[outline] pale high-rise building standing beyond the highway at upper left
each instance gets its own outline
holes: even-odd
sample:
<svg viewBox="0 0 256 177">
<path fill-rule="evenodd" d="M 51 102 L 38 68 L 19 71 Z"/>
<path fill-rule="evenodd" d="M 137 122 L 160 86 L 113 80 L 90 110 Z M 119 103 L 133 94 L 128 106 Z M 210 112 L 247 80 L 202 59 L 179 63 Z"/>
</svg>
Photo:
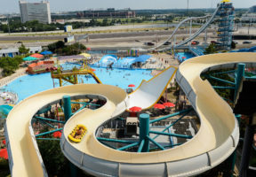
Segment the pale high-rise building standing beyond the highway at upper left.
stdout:
<svg viewBox="0 0 256 177">
<path fill-rule="evenodd" d="M 38 20 L 40 23 L 50 24 L 52 22 L 50 3 L 41 1 L 40 3 L 28 3 L 27 1 L 19 1 L 21 22 Z"/>
</svg>

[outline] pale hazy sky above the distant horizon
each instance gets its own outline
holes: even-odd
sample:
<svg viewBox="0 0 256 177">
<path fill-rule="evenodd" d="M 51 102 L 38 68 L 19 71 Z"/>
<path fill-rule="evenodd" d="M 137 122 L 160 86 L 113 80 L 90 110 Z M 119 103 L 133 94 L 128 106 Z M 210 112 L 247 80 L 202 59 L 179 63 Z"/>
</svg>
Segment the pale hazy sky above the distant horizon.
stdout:
<svg viewBox="0 0 256 177">
<path fill-rule="evenodd" d="M 35 3 L 41 0 L 27 0 Z M 50 0 L 51 12 L 82 11 L 87 9 L 186 9 L 189 8 L 214 8 L 220 0 Z M 1 13 L 20 13 L 19 0 L 0 0 Z M 255 0 L 232 0 L 235 8 L 249 8 L 256 5 Z"/>
</svg>

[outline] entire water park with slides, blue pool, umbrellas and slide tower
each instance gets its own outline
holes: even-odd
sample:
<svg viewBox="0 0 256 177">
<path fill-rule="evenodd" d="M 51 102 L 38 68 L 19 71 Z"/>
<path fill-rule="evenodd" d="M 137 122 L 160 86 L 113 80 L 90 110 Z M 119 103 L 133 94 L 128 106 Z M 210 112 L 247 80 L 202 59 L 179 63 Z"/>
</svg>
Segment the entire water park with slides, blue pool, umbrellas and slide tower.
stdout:
<svg viewBox="0 0 256 177">
<path fill-rule="evenodd" d="M 0 80 L 0 159 L 12 176 L 253 176 L 256 49 L 231 49 L 233 16 L 223 0 L 147 52 L 23 58 Z M 208 55 L 191 43 L 216 18 Z"/>
</svg>

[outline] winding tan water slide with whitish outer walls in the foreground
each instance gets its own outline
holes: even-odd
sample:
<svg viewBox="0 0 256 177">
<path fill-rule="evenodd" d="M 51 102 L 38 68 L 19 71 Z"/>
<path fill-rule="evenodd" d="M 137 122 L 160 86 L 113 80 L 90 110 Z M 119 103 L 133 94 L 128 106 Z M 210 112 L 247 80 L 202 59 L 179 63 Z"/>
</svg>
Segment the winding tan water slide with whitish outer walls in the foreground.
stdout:
<svg viewBox="0 0 256 177">
<path fill-rule="evenodd" d="M 140 105 L 141 99 L 153 103 L 153 98 L 148 95 L 140 96 L 138 102 L 132 100 L 135 98 L 130 101 L 130 97 L 135 96 L 137 91 L 141 91 L 141 94 L 156 94 L 153 91 L 155 88 L 147 85 L 153 86 L 152 82 L 158 81 L 157 77 L 167 80 L 161 74 L 148 81 L 148 84 L 142 82 L 140 88 L 129 96 L 123 89 L 103 84 L 66 86 L 30 96 L 16 105 L 6 120 L 5 136 L 12 176 L 47 176 L 30 122 L 39 109 L 66 95 L 101 96 L 107 100 L 98 110 L 86 109 L 73 115 L 68 119 L 61 136 L 60 146 L 64 155 L 87 173 L 96 176 L 147 177 L 203 173 L 219 165 L 236 149 L 239 127 L 231 108 L 208 81 L 201 79 L 200 74 L 209 68 L 234 67 L 239 62 L 255 64 L 255 60 L 255 53 L 225 53 L 192 58 L 180 65 L 176 80 L 196 110 L 201 127 L 193 139 L 169 150 L 144 153 L 114 150 L 100 143 L 95 135 L 100 125 L 128 107 Z M 163 73 L 170 74 L 168 81 L 173 75 L 171 70 L 175 71 L 170 67 Z M 166 82 L 161 82 L 163 85 L 156 89 L 164 90 Z M 81 142 L 73 143 L 68 140 L 68 134 L 77 124 L 83 124 L 88 132 Z"/>
</svg>

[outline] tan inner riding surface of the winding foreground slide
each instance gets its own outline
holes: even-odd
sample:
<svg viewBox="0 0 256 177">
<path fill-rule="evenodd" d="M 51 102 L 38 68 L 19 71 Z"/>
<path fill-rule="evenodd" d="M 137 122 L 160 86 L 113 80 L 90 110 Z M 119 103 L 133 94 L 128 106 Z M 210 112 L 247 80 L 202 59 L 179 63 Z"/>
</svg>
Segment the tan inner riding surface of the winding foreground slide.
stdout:
<svg viewBox="0 0 256 177">
<path fill-rule="evenodd" d="M 218 149 L 224 142 L 227 142 L 234 129 L 237 129 L 237 125 L 231 108 L 217 95 L 208 81 L 203 81 L 200 78 L 200 74 L 213 65 L 236 62 L 253 63 L 255 60 L 255 53 L 227 53 L 189 59 L 180 65 L 180 73 L 196 93 L 194 108 L 201 119 L 201 127 L 196 136 L 189 142 L 170 150 L 148 153 L 124 152 L 110 149 L 96 139 L 95 132 L 102 123 L 127 109 L 129 97 L 123 89 L 103 84 L 82 84 L 51 89 L 30 96 L 12 109 L 6 121 L 5 134 L 8 136 L 9 144 L 7 145 L 9 152 L 12 151 L 12 176 L 45 175 L 42 160 L 36 152 L 36 143 L 32 141 L 35 136 L 30 135 L 28 127 L 37 110 L 66 95 L 100 95 L 107 99 L 107 103 L 98 110 L 82 110 L 76 113 L 64 127 L 62 138 L 65 138 L 65 141 L 76 150 L 84 152 L 88 156 L 111 162 L 138 165 L 175 162 L 205 153 L 211 155 L 211 150 Z M 151 90 L 144 91 L 150 92 Z M 143 99 L 143 97 L 140 97 L 140 99 Z M 147 97 L 144 97 L 144 99 L 147 99 Z M 131 105 L 129 106 L 131 107 Z M 69 142 L 68 134 L 77 124 L 83 124 L 87 127 L 88 133 L 80 143 Z M 236 144 L 230 148 L 227 155 L 223 156 L 223 159 L 212 160 L 216 162 L 212 166 L 220 164 L 221 161 L 228 158 L 226 156 L 230 155 L 235 148 Z M 186 175 L 188 176 L 188 173 L 184 174 L 184 176 Z"/>
</svg>

